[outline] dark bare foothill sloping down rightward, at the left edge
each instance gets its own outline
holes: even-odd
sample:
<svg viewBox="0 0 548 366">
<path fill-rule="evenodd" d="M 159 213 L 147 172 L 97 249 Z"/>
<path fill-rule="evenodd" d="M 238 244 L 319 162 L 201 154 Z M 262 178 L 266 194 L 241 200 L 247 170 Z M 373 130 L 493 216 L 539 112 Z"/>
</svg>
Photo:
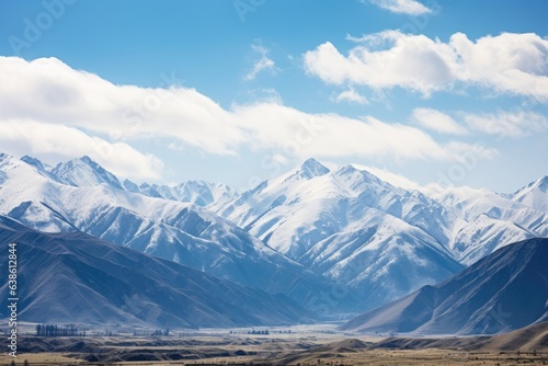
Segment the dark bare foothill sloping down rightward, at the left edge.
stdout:
<svg viewBox="0 0 548 366">
<path fill-rule="evenodd" d="M 250 327 L 310 322 L 282 295 L 238 286 L 81 232 L 42 233 L 0 216 L 16 243 L 18 317 L 30 322 L 145 327 Z M 8 272 L 8 262 L 0 270 Z M 8 284 L 0 286 L 9 298 Z M 2 307 L 0 317 L 8 318 Z"/>
</svg>

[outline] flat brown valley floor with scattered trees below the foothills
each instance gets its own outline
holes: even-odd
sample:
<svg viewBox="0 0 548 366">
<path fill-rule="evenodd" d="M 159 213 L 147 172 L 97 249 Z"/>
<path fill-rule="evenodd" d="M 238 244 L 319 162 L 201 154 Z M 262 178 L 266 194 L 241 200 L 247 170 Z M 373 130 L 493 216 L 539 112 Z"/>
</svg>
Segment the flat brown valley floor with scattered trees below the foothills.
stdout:
<svg viewBox="0 0 548 366">
<path fill-rule="evenodd" d="M 240 330 L 171 336 L 23 336 L 16 365 L 548 365 L 548 350 L 499 351 L 477 347 L 475 339 L 367 338 L 329 330 Z M 414 343 L 413 343 L 414 342 Z M 409 347 L 404 350 L 402 347 Z M 473 351 L 471 351 L 473 350 Z M 0 365 L 12 357 L 0 355 Z"/>
</svg>

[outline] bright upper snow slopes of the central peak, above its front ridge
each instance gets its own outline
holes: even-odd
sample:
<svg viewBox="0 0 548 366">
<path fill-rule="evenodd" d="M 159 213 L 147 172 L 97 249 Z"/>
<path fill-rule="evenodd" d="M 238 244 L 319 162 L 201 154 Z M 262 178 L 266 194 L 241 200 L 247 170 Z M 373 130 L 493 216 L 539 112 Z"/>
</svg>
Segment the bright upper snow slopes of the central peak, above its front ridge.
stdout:
<svg viewBox="0 0 548 366">
<path fill-rule="evenodd" d="M 397 188 L 352 165 L 329 172 L 313 159 L 263 182 L 228 206 L 210 208 L 298 260 L 318 241 L 343 231 L 359 217 L 361 209 L 369 207 L 421 228 L 442 244 L 448 241 L 447 222 L 455 219 L 419 192 Z"/>
</svg>

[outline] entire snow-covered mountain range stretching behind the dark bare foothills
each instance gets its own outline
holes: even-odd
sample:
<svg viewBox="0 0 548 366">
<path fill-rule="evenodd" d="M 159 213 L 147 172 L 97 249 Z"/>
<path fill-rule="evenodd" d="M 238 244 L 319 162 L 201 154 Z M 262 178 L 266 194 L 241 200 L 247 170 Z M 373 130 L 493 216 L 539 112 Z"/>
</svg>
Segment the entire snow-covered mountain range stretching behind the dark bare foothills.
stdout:
<svg viewBox="0 0 548 366">
<path fill-rule="evenodd" d="M 512 194 L 395 186 L 315 159 L 238 192 L 119 180 L 88 157 L 56 167 L 0 155 L 0 215 L 81 231 L 322 314 L 362 312 L 441 283 L 518 240 L 548 236 L 548 178 Z"/>
</svg>

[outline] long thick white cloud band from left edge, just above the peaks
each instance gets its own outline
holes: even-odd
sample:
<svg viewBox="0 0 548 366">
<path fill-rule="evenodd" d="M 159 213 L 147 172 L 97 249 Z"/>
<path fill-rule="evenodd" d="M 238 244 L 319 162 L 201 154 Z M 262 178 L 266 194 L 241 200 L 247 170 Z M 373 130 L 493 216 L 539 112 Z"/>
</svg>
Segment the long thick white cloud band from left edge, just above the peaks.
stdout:
<svg viewBox="0 0 548 366">
<path fill-rule="evenodd" d="M 153 110 L 133 110 L 152 95 L 165 98 Z M 466 148 L 370 116 L 311 114 L 270 100 L 226 110 L 194 89 L 115 85 L 55 58 L 0 57 L 0 146 L 5 152 L 33 151 L 54 161 L 90 155 L 116 174 L 147 179 L 158 176 L 162 163 L 135 146 L 159 140 L 208 155 L 246 149 L 286 160 L 455 160 Z"/>
</svg>

